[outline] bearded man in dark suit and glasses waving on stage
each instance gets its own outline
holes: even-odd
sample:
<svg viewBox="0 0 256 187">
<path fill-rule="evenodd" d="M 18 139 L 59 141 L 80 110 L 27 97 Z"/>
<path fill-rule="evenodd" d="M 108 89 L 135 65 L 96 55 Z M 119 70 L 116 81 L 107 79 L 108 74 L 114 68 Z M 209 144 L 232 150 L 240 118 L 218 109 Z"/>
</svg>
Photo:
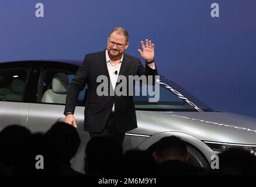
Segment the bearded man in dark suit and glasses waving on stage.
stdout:
<svg viewBox="0 0 256 187">
<path fill-rule="evenodd" d="M 122 27 L 112 30 L 108 37 L 108 45 L 105 51 L 87 54 L 84 62 L 79 67 L 77 74 L 70 84 L 65 105 L 65 122 L 74 125 L 74 110 L 79 92 L 88 84 L 88 97 L 85 104 L 84 130 L 89 131 L 90 136 L 112 136 L 119 143 L 123 143 L 126 131 L 137 127 L 136 112 L 133 96 L 99 96 L 97 82 L 100 75 L 108 77 L 110 93 L 115 90 L 120 82 L 117 79 L 123 75 L 128 79 L 129 75 L 157 75 L 154 63 L 154 44 L 146 39 L 146 46 L 141 41 L 142 51 L 140 56 L 146 61 L 143 67 L 139 58 L 124 54 L 129 47 L 129 35 Z M 130 82 L 129 82 L 130 84 Z"/>
</svg>

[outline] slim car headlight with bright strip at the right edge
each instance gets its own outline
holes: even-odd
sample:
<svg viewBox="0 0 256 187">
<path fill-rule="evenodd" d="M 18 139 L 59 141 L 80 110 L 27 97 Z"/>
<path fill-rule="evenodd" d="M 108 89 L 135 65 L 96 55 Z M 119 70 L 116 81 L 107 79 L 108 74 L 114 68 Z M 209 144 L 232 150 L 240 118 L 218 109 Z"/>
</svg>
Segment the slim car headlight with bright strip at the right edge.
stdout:
<svg viewBox="0 0 256 187">
<path fill-rule="evenodd" d="M 209 146 L 213 151 L 223 152 L 229 150 L 230 148 L 242 148 L 244 150 L 250 151 L 251 154 L 256 156 L 256 145 L 247 144 L 232 144 L 232 143 L 221 143 L 214 141 L 203 141 L 207 146 Z"/>
</svg>

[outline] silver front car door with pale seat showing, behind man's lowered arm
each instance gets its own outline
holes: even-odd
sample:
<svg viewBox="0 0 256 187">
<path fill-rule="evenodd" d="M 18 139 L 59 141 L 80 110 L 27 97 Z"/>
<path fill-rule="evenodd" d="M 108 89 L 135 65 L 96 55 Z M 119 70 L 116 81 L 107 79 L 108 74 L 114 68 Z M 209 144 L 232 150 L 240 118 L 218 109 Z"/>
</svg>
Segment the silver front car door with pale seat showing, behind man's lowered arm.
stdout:
<svg viewBox="0 0 256 187">
<path fill-rule="evenodd" d="M 76 71 L 72 68 L 43 68 L 37 87 L 37 102 L 31 103 L 27 126 L 32 132 L 46 132 L 57 121 L 64 120 L 65 97 L 71 80 Z M 84 101 L 87 87 L 79 94 L 75 108 L 77 130 L 81 139 L 77 155 L 72 159 L 72 168 L 84 172 L 84 152 L 89 141 L 89 133 L 83 130 L 84 126 Z"/>
</svg>

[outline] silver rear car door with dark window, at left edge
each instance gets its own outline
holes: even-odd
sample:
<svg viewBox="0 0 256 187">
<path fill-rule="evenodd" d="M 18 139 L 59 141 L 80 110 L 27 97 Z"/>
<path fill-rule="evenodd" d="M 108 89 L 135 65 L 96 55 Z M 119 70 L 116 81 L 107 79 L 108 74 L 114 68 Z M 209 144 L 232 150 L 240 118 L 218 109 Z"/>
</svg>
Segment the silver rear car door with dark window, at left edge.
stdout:
<svg viewBox="0 0 256 187">
<path fill-rule="evenodd" d="M 10 124 L 27 127 L 30 103 L 25 102 L 30 68 L 0 64 L 0 130 Z"/>
</svg>

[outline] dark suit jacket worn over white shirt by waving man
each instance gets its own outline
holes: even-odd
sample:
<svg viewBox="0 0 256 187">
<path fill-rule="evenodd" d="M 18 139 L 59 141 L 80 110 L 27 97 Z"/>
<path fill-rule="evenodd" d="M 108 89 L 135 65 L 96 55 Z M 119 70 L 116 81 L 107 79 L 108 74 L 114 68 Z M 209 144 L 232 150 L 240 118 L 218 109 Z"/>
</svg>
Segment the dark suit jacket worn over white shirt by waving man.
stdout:
<svg viewBox="0 0 256 187">
<path fill-rule="evenodd" d="M 79 92 L 84 89 L 85 84 L 88 84 L 84 130 L 89 132 L 102 131 L 112 110 L 113 103 L 115 103 L 116 130 L 125 132 L 135 129 L 137 120 L 133 96 L 98 96 L 96 89 L 101 82 L 96 82 L 96 79 L 99 75 L 108 77 L 109 88 L 112 89 L 105 50 L 85 56 L 84 62 L 70 84 L 64 113 L 74 113 Z M 157 70 L 153 70 L 148 65 L 144 68 L 139 58 L 124 54 L 119 75 L 126 76 L 128 80 L 128 75 L 157 75 Z M 118 85 L 118 79 L 116 85 Z"/>
</svg>

